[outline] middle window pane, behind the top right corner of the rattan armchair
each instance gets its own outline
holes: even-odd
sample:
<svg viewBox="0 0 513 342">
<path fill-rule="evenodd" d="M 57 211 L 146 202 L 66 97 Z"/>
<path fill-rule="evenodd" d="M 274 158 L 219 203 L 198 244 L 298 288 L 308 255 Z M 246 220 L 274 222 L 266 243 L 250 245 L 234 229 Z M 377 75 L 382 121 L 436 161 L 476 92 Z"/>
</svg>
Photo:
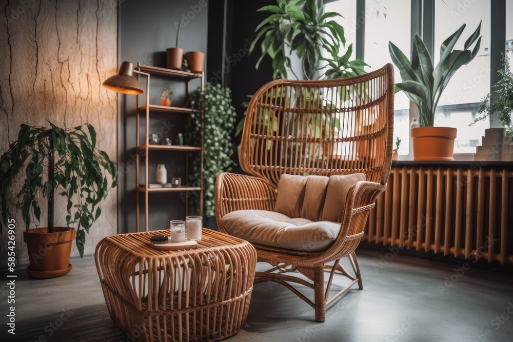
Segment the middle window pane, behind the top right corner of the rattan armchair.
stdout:
<svg viewBox="0 0 513 342">
<path fill-rule="evenodd" d="M 388 42 L 410 56 L 411 2 L 405 0 L 367 0 L 365 2 L 365 58 L 371 70 L 391 63 Z M 394 66 L 396 83 L 401 82 Z M 403 92 L 394 98 L 393 140 L 401 139 L 399 154 L 408 154 L 409 100 Z M 394 149 L 396 146 L 394 145 Z"/>
</svg>

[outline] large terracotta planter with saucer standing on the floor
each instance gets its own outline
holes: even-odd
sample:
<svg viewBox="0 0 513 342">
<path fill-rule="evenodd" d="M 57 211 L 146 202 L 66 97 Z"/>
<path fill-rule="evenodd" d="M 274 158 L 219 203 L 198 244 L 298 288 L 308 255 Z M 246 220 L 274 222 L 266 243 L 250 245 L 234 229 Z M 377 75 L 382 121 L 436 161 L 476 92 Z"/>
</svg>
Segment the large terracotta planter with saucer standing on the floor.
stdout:
<svg viewBox="0 0 513 342">
<path fill-rule="evenodd" d="M 30 261 L 27 273 L 36 278 L 67 274 L 72 267 L 69 258 L 75 236 L 74 228 L 64 227 L 55 227 L 53 233 L 48 233 L 48 228 L 24 231 Z"/>
</svg>

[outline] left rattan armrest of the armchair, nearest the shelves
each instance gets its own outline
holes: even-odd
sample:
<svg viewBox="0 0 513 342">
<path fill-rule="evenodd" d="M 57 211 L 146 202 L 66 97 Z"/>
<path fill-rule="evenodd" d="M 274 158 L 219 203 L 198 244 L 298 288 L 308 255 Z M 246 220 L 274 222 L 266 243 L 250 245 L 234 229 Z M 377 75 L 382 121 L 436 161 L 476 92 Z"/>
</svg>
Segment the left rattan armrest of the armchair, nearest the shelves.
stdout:
<svg viewBox="0 0 513 342">
<path fill-rule="evenodd" d="M 226 233 L 221 218 L 243 209 L 274 211 L 276 187 L 267 180 L 223 172 L 215 179 L 214 208 L 219 229 Z"/>
</svg>

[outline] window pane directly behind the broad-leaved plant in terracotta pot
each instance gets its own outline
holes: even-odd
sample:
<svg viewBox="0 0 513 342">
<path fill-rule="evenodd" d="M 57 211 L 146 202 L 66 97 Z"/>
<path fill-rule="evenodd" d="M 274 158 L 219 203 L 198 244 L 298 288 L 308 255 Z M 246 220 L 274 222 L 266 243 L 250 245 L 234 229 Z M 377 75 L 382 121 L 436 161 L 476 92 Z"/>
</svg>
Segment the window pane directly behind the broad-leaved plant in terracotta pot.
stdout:
<svg viewBox="0 0 513 342">
<path fill-rule="evenodd" d="M 468 126 L 476 118 L 481 99 L 490 91 L 490 2 L 435 0 L 435 65 L 440 61 L 440 46 L 449 35 L 466 24 L 455 46 L 455 49 L 463 50 L 466 39 L 481 20 L 481 48 L 469 64 L 452 76 L 440 97 L 435 115 L 435 126 L 458 129 L 455 153 L 476 153 L 484 130 L 490 126 L 488 120 Z"/>
</svg>

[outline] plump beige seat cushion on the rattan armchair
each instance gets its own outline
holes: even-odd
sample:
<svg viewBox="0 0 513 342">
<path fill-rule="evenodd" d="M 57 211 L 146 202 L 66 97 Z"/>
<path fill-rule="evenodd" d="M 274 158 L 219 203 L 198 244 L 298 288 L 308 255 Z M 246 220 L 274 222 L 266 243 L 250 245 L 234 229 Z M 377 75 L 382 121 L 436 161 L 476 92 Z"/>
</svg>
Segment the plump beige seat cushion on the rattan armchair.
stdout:
<svg viewBox="0 0 513 342">
<path fill-rule="evenodd" d="M 339 223 L 290 218 L 266 210 L 232 211 L 221 222 L 230 235 L 251 243 L 305 252 L 326 250 L 340 230 Z"/>
</svg>

